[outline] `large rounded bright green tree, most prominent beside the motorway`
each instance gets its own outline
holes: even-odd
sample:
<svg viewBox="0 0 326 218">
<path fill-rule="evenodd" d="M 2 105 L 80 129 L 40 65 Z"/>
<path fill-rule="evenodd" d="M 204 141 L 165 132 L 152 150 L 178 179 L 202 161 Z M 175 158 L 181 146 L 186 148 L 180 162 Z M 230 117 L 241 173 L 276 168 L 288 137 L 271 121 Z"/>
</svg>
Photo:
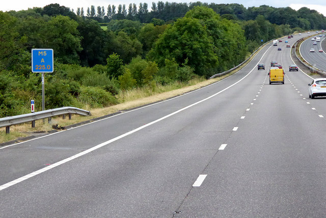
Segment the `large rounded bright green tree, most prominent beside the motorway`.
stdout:
<svg viewBox="0 0 326 218">
<path fill-rule="evenodd" d="M 184 17 L 160 35 L 149 57 L 160 66 L 164 65 L 166 59 L 174 58 L 179 66 L 187 59 L 188 65 L 195 69 L 197 75 L 209 76 L 212 68 L 218 64 L 215 49 L 200 20 Z"/>
</svg>

